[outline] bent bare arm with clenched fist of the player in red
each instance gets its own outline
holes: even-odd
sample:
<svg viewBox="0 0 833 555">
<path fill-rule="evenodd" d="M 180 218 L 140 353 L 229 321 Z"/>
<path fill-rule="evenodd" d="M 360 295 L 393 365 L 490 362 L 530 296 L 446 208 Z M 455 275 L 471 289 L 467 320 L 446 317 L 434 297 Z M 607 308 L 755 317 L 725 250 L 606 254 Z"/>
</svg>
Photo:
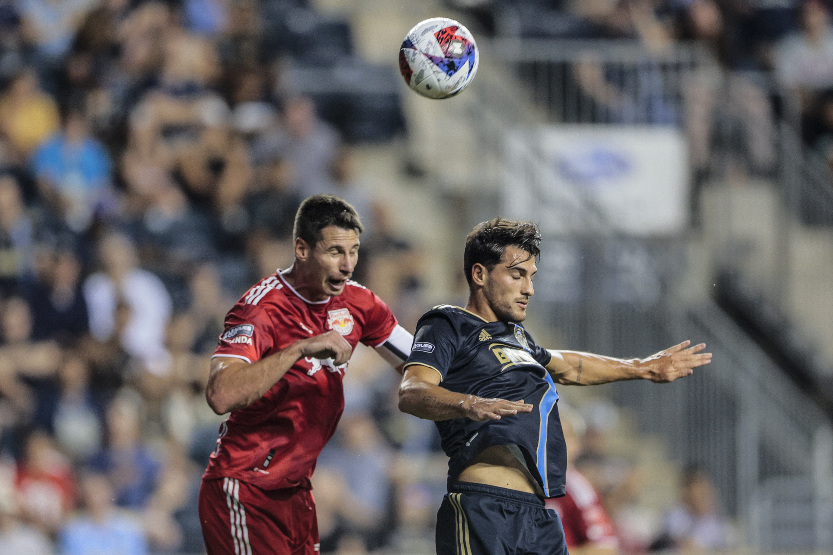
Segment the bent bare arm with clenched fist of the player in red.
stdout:
<svg viewBox="0 0 833 555">
<path fill-rule="evenodd" d="M 344 364 L 351 353 L 352 347 L 342 334 L 328 331 L 296 341 L 286 349 L 251 364 L 232 357 L 214 357 L 206 387 L 208 406 L 217 414 L 245 409 L 272 389 L 272 385 L 298 360 L 311 356 L 334 359 L 336 364 Z"/>
</svg>

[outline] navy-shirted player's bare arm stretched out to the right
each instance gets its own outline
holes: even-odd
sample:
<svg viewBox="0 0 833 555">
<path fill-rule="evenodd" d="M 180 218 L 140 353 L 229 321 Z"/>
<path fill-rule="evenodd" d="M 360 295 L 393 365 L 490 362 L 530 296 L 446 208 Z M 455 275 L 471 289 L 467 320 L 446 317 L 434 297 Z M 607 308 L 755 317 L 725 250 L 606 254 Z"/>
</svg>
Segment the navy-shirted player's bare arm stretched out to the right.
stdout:
<svg viewBox="0 0 833 555">
<path fill-rule="evenodd" d="M 701 353 L 706 344 L 689 347 L 683 341 L 646 359 L 614 359 L 601 354 L 551 350 L 546 368 L 560 384 L 594 385 L 624 379 L 650 379 L 667 384 L 691 375 L 698 366 L 711 363 L 711 353 Z"/>
</svg>

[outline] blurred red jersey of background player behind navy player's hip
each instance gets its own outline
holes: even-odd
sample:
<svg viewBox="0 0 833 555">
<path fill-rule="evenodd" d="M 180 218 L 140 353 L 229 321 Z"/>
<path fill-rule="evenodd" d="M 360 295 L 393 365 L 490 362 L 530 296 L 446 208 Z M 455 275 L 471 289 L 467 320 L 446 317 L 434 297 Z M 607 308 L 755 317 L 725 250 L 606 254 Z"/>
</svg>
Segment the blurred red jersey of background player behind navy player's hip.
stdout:
<svg viewBox="0 0 833 555">
<path fill-rule="evenodd" d="M 566 495 L 547 499 L 546 508 L 556 509 L 561 516 L 568 548 L 619 547 L 611 518 L 596 488 L 576 468 L 567 468 Z"/>
</svg>

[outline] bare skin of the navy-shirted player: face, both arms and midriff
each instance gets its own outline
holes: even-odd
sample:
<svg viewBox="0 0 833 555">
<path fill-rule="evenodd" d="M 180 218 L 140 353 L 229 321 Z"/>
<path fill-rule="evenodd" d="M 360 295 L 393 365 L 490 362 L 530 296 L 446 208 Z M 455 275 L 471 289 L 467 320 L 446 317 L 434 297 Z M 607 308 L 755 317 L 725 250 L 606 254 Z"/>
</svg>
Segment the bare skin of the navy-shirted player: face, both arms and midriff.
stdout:
<svg viewBox="0 0 833 555">
<path fill-rule="evenodd" d="M 506 247 L 501 262 L 491 271 L 475 264 L 471 269 L 471 293 L 466 310 L 487 322 L 526 320 L 526 306 L 535 293 L 532 276 L 536 271 L 534 257 L 514 246 Z M 699 353 L 706 344 L 693 347 L 689 344 L 690 341 L 684 341 L 646 359 L 627 360 L 551 350 L 552 359 L 546 369 L 557 384 L 606 384 L 624 379 L 650 379 L 664 384 L 690 375 L 694 368 L 711 362 L 711 353 Z M 407 366 L 399 388 L 399 409 L 421 419 L 469 418 L 478 422 L 511 418 L 533 409 L 522 399 L 482 399 L 454 393 L 441 387 L 441 379 L 428 366 Z M 505 445 L 484 449 L 456 479 L 543 495 L 529 470 Z"/>
</svg>

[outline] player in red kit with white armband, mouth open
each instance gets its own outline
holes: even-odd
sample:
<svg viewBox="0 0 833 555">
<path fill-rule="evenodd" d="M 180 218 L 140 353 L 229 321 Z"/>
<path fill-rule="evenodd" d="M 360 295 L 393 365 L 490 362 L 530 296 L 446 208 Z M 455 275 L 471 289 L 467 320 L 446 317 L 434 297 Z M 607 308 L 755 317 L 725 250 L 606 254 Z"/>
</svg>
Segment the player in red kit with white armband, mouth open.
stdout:
<svg viewBox="0 0 833 555">
<path fill-rule="evenodd" d="M 344 410 L 342 378 L 361 342 L 402 373 L 412 335 L 351 281 L 362 223 L 332 195 L 303 201 L 295 262 L 248 290 L 226 316 L 206 398 L 220 426 L 202 477 L 209 555 L 318 551 L 310 478 Z"/>
</svg>

